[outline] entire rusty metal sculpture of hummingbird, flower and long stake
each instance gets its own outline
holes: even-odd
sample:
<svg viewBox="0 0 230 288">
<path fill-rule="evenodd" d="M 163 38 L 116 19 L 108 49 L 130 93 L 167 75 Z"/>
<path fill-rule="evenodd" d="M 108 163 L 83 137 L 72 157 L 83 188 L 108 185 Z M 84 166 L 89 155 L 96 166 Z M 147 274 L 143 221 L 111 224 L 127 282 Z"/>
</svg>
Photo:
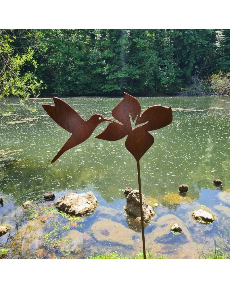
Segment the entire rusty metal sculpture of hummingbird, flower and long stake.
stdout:
<svg viewBox="0 0 230 288">
<path fill-rule="evenodd" d="M 53 158 L 51 163 L 55 162 L 57 158 L 68 149 L 81 144 L 88 139 L 97 125 L 103 121 L 109 121 L 110 123 L 103 132 L 96 136 L 97 139 L 117 141 L 128 136 L 125 141 L 125 147 L 137 161 L 143 255 L 144 259 L 146 259 L 139 161 L 154 143 L 154 138 L 148 131 L 163 128 L 172 122 L 173 114 L 171 107 L 154 105 L 147 108 L 141 114 L 141 105 L 139 101 L 135 97 L 124 93 L 124 98 L 112 110 L 112 116 L 120 122 L 118 123 L 114 120 L 103 118 L 99 114 L 94 114 L 87 121 L 84 121 L 83 118 L 81 118 L 81 116 L 66 102 L 57 97 L 53 97 L 53 101 L 55 106 L 42 105 L 43 108 L 58 125 L 72 133 L 72 135 Z M 132 130 L 130 115 L 133 122 L 137 118 L 135 126 L 139 124 L 142 125 L 137 126 Z"/>
</svg>

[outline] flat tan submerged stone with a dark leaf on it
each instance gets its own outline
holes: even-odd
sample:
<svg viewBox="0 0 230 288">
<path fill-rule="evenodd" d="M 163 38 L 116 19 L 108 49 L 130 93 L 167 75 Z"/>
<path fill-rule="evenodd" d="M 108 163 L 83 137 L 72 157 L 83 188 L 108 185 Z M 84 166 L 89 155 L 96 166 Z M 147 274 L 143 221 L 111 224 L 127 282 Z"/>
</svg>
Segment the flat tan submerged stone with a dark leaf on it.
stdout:
<svg viewBox="0 0 230 288">
<path fill-rule="evenodd" d="M 133 246 L 132 237 L 136 235 L 135 232 L 122 224 L 105 218 L 100 218 L 94 223 L 91 230 L 97 241 L 108 241 L 126 246 Z"/>
</svg>

